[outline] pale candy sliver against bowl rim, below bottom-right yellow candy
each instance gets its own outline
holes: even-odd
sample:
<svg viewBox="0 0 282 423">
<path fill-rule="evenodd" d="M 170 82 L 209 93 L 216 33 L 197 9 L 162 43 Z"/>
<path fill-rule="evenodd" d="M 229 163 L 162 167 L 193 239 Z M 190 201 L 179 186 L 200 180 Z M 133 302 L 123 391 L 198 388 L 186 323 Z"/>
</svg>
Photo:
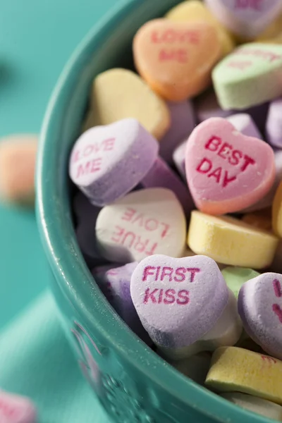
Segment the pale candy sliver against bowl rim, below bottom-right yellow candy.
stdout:
<svg viewBox="0 0 282 423">
<path fill-rule="evenodd" d="M 221 396 L 231 403 L 245 408 L 245 410 L 256 412 L 269 419 L 282 420 L 281 405 L 271 403 L 271 401 L 240 392 L 223 393 Z"/>
</svg>

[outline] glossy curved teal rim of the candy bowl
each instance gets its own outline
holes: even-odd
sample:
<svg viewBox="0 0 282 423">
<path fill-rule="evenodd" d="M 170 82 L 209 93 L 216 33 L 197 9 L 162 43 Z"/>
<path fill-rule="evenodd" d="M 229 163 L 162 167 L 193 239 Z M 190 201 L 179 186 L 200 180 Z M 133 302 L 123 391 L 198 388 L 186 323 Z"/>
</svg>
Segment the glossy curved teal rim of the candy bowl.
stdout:
<svg viewBox="0 0 282 423">
<path fill-rule="evenodd" d="M 142 0 L 142 3 L 149 5 L 150 1 L 152 0 Z M 102 336 L 118 352 L 118 355 L 123 356 L 123 359 L 130 362 L 133 367 L 137 367 L 142 374 L 145 374 L 148 381 L 152 379 L 172 396 L 176 396 L 178 400 L 212 419 L 235 423 L 240 418 L 252 418 L 253 422 L 271 423 L 271 419 L 239 409 L 220 396 L 195 384 L 164 362 L 145 343 L 140 341 L 116 315 L 99 288 L 92 283 L 93 277 L 82 259 L 73 234 L 63 232 L 66 225 L 66 214 L 69 212 L 69 201 L 56 195 L 54 189 L 56 180 L 54 180 L 51 169 L 52 165 L 54 167 L 55 154 L 60 152 L 54 133 L 60 126 L 58 116 L 66 103 L 64 97 L 66 97 L 68 85 L 78 80 L 77 75 L 82 71 L 80 68 L 81 57 L 87 54 L 90 44 L 91 49 L 99 49 L 101 40 L 105 39 L 113 27 L 121 25 L 123 19 L 129 17 L 130 13 L 139 5 L 140 0 L 120 0 L 111 11 L 106 13 L 104 18 L 99 20 L 99 23 L 92 27 L 92 30 L 82 39 L 71 59 L 66 63 L 51 95 L 40 134 L 36 167 L 37 224 L 42 244 L 51 269 L 54 274 L 60 276 L 59 288 L 83 321 L 87 321 L 87 327 L 94 324 L 96 330 L 102 333 Z M 83 285 L 87 285 L 90 298 L 82 298 L 82 295 L 73 289 L 75 280 L 83 281 Z M 57 278 L 56 283 L 58 283 Z M 92 307 L 87 308 L 90 301 L 93 301 Z M 103 319 L 109 326 L 109 331 L 106 331 L 97 319 L 101 307 L 104 309 Z M 114 336 L 118 338 L 118 342 L 115 341 Z M 130 348 L 128 348 L 128 343 L 130 343 Z"/>
</svg>

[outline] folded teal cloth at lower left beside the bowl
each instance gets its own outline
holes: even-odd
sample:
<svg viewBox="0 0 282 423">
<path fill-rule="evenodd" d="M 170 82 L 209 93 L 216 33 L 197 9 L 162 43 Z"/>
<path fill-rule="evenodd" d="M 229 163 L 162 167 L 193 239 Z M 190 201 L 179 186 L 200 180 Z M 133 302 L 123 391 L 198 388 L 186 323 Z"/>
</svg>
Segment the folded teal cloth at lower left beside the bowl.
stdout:
<svg viewBox="0 0 282 423">
<path fill-rule="evenodd" d="M 0 357 L 1 388 L 32 398 L 38 423 L 109 423 L 80 375 L 50 293 L 2 331 Z"/>
</svg>

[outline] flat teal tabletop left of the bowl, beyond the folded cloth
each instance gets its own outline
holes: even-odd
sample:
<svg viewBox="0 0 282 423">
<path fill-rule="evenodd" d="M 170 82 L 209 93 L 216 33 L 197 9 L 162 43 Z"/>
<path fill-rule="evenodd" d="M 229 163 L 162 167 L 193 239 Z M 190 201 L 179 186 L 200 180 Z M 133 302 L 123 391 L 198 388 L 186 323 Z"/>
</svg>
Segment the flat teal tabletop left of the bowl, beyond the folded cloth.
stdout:
<svg viewBox="0 0 282 423">
<path fill-rule="evenodd" d="M 119 0 L 0 0 L 0 137 L 39 133 L 73 49 Z M 35 214 L 0 205 L 0 329 L 48 284 Z"/>
</svg>

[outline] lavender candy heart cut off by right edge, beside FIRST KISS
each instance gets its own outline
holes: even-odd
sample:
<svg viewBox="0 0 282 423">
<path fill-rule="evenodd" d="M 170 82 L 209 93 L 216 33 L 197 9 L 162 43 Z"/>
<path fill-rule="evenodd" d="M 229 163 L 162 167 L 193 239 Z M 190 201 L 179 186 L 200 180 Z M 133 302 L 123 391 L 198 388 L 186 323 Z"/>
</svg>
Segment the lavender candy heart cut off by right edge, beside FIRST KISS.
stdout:
<svg viewBox="0 0 282 423">
<path fill-rule="evenodd" d="M 282 360 L 282 275 L 265 273 L 244 283 L 238 312 L 250 338 Z"/>
</svg>

